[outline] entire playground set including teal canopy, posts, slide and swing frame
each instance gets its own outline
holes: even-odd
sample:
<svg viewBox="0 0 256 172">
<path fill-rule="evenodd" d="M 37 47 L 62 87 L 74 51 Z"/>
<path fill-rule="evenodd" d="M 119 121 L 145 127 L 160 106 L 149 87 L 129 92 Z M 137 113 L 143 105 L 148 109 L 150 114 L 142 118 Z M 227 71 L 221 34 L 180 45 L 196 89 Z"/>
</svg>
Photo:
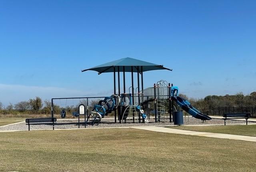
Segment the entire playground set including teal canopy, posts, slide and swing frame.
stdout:
<svg viewBox="0 0 256 172">
<path fill-rule="evenodd" d="M 171 70 L 164 68 L 163 65 L 152 64 L 141 60 L 132 58 L 123 58 L 94 68 L 86 69 L 97 71 L 98 74 L 105 72 L 113 72 L 114 74 L 114 94 L 110 97 L 83 97 L 86 99 L 87 111 L 84 115 L 84 125 L 92 121 L 99 124 L 104 116 L 108 116 L 109 113 L 114 112 L 114 122 L 119 120 L 119 123 L 123 122 L 148 122 L 150 118 L 149 103 L 154 103 L 154 118 L 155 122 L 166 122 L 169 119 L 172 122 L 174 109 L 178 106 L 201 120 L 210 120 L 211 118 L 199 112 L 196 108 L 184 98 L 178 96 L 178 87 L 167 81 L 160 80 L 153 87 L 143 88 L 143 72 L 149 70 Z M 82 72 L 86 71 L 82 70 Z M 172 70 L 171 70 L 172 71 Z M 118 93 L 116 93 L 116 72 L 118 74 Z M 120 72 L 123 72 L 123 93 L 120 92 Z M 129 93 L 126 93 L 126 72 L 131 72 L 132 86 L 129 88 Z M 134 72 L 137 73 L 137 84 L 134 87 Z M 141 76 L 141 77 L 140 77 Z M 141 84 L 140 84 L 141 78 Z M 140 87 L 141 86 L 141 87 Z M 140 90 L 141 88 L 141 90 Z M 78 97 L 79 98 L 79 97 Z M 76 98 L 76 99 L 78 99 Z M 90 98 L 104 98 L 100 100 L 98 104 L 95 104 L 92 110 L 88 109 L 88 99 Z M 52 118 L 54 118 L 54 102 L 56 99 L 74 99 L 74 98 L 52 98 Z M 80 98 L 79 98 L 80 99 Z M 176 104 L 174 104 L 176 102 Z M 176 106 L 174 106 L 176 105 Z M 167 110 L 168 107 L 168 110 Z M 144 114 L 144 109 L 147 111 L 148 116 Z M 117 113 L 118 115 L 117 115 Z M 74 112 L 78 116 L 79 114 Z M 61 111 L 61 117 L 65 117 L 65 110 Z M 87 118 L 86 118 L 87 116 Z"/>
</svg>

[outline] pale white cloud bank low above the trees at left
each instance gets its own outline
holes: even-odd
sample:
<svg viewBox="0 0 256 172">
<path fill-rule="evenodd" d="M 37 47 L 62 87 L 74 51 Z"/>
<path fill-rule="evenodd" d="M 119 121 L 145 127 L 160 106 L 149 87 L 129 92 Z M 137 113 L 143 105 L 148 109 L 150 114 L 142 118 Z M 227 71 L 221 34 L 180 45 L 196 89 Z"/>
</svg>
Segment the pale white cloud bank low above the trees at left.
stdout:
<svg viewBox="0 0 256 172">
<path fill-rule="evenodd" d="M 101 95 L 99 95 L 101 94 Z M 94 94 L 92 90 L 74 90 L 61 87 L 24 86 L 12 84 L 0 84 L 0 102 L 7 106 L 9 103 L 16 104 L 28 101 L 36 96 L 42 100 L 50 100 L 59 97 L 84 97 L 84 96 L 107 96 L 111 90 Z"/>
</svg>

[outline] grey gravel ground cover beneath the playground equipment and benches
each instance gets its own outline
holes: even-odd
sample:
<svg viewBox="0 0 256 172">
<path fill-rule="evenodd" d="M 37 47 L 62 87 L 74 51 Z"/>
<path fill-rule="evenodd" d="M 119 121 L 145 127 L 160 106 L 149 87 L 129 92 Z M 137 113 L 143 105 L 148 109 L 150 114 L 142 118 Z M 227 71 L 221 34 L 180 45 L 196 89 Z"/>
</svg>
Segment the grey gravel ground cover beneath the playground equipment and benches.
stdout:
<svg viewBox="0 0 256 172">
<path fill-rule="evenodd" d="M 166 122 L 154 122 L 154 118 L 151 118 L 149 120 L 149 123 L 132 123 L 132 122 L 126 122 L 126 123 L 114 123 L 114 118 L 102 118 L 102 122 L 100 122 L 99 125 L 90 125 L 88 124 L 86 128 L 107 128 L 107 127 L 129 127 L 129 126 L 172 126 L 174 125 L 173 122 L 168 122 L 169 119 L 166 119 Z M 69 124 L 72 123 L 72 124 Z M 76 124 L 74 124 L 76 123 Z M 244 124 L 244 121 L 238 121 L 238 120 L 227 120 L 226 124 Z M 248 122 L 250 123 L 250 122 Z M 78 128 L 78 119 L 57 119 L 57 122 L 54 123 L 54 128 L 60 128 L 60 129 L 68 129 L 68 128 Z M 204 121 L 198 120 L 193 117 L 184 117 L 184 124 L 186 125 L 194 125 L 194 124 L 223 124 L 224 120 L 221 119 L 212 119 L 210 121 Z M 84 128 L 84 119 L 80 119 L 80 128 Z M 52 125 L 30 125 L 30 130 L 45 130 L 45 129 L 52 129 Z M 8 131 L 8 130 L 28 130 L 28 125 L 26 125 L 25 122 L 19 123 L 19 124 L 13 124 L 9 126 L 2 126 L 0 127 L 0 131 Z"/>
</svg>

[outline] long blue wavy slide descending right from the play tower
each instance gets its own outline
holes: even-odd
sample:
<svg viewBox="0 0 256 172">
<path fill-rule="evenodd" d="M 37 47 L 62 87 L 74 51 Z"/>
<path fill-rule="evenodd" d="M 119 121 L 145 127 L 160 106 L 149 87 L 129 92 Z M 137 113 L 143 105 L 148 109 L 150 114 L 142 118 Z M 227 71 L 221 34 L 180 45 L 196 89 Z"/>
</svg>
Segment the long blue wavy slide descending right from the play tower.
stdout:
<svg viewBox="0 0 256 172">
<path fill-rule="evenodd" d="M 199 110 L 197 110 L 196 108 L 194 108 L 190 102 L 188 102 L 188 100 L 182 98 L 182 97 L 172 97 L 172 100 L 176 101 L 178 103 L 178 105 L 185 110 L 186 112 L 188 112 L 190 115 L 194 116 L 197 119 L 200 120 L 211 120 L 212 118 L 210 116 L 204 115 L 201 112 L 199 112 Z"/>
</svg>

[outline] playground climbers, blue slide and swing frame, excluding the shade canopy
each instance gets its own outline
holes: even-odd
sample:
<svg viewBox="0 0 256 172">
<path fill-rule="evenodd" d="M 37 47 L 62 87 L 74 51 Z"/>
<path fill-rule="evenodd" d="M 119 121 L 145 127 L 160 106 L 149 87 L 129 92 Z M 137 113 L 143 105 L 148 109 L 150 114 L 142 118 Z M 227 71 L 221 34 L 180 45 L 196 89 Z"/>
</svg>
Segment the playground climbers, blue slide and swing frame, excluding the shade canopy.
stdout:
<svg viewBox="0 0 256 172">
<path fill-rule="evenodd" d="M 137 90 L 137 89 L 136 89 Z M 148 108 L 149 103 L 154 103 L 154 118 L 155 122 L 166 122 L 169 119 L 172 122 L 174 110 L 179 107 L 188 112 L 188 114 L 201 120 L 210 120 L 209 116 L 202 114 L 196 108 L 194 108 L 187 100 L 178 96 L 178 87 L 173 86 L 167 81 L 160 80 L 154 87 L 141 90 L 139 93 L 118 94 L 110 97 L 81 97 L 86 99 L 87 112 L 84 116 L 84 126 L 87 124 L 99 124 L 105 116 L 108 116 L 111 112 L 115 112 L 120 109 L 120 116 L 118 116 L 120 123 L 126 122 L 144 122 L 148 123 L 150 118 L 149 110 L 148 115 L 144 113 L 142 108 Z M 79 99 L 81 99 L 79 98 Z M 88 99 L 90 98 L 104 98 L 100 100 L 98 104 L 95 104 L 92 110 L 88 108 Z M 53 98 L 52 107 L 54 106 L 53 100 L 56 99 L 78 99 L 78 98 Z M 139 104 L 139 100 L 141 100 Z M 169 104 L 167 104 L 168 102 Z M 176 102 L 176 104 L 175 104 Z M 168 110 L 166 108 L 169 107 Z M 166 112 L 167 111 L 167 112 Z M 60 115 L 64 118 L 64 109 L 61 110 Z M 73 112 L 74 116 L 78 116 L 77 112 Z M 169 114 L 169 115 L 168 115 Z M 66 114 L 65 114 L 66 116 Z M 115 118 L 116 122 L 116 118 Z"/>
</svg>

